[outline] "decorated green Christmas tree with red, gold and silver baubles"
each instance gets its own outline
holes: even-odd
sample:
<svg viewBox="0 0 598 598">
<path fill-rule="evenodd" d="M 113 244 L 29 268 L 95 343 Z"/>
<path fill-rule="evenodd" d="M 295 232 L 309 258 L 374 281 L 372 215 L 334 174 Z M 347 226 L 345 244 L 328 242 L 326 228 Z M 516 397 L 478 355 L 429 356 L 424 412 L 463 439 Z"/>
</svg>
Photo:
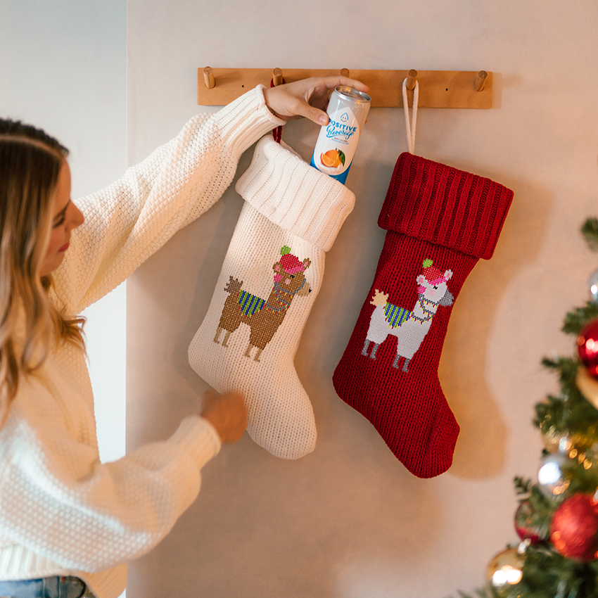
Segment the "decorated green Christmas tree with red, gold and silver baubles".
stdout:
<svg viewBox="0 0 598 598">
<path fill-rule="evenodd" d="M 598 220 L 581 231 L 598 251 Z M 535 405 L 545 448 L 537 481 L 514 479 L 521 542 L 490 561 L 481 598 L 598 598 L 598 270 L 589 285 L 592 300 L 563 326 L 577 352 L 542 361 L 559 376 L 560 395 Z"/>
</svg>

